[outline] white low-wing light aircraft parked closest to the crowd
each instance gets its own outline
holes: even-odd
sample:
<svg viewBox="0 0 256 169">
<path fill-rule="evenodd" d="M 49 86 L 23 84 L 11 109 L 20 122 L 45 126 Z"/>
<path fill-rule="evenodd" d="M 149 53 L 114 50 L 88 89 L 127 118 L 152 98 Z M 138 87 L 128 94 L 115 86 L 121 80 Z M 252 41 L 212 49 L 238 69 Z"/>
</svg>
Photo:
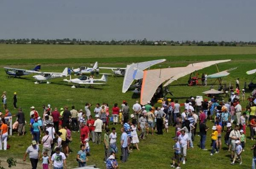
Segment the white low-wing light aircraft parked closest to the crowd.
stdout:
<svg viewBox="0 0 256 169">
<path fill-rule="evenodd" d="M 94 83 L 94 82 L 107 82 L 107 76 L 106 75 L 102 75 L 102 77 L 100 79 L 94 79 L 94 78 L 90 78 L 89 76 L 80 76 L 79 78 L 75 78 L 75 79 L 64 79 L 65 82 L 69 82 L 69 83 L 73 83 L 74 85 L 71 88 L 75 88 L 75 84 L 77 85 L 102 85 L 102 84 L 106 84 L 106 83 Z"/>
</svg>

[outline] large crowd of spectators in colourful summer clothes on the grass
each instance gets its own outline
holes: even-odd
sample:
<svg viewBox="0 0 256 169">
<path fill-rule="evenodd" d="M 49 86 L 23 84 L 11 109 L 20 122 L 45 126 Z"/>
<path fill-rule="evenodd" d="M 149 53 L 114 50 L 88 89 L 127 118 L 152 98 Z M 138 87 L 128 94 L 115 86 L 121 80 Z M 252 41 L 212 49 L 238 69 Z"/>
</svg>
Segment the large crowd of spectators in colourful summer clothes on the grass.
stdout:
<svg viewBox="0 0 256 169">
<path fill-rule="evenodd" d="M 238 86 L 239 87 L 239 86 Z M 237 88 L 238 88 L 237 87 Z M 14 93 L 16 96 L 17 93 Z M 3 93 L 6 99 L 6 92 Z M 51 105 L 42 106 L 41 111 L 31 106 L 30 111 L 30 133 L 32 135 L 32 144 L 26 150 L 24 161 L 29 155 L 32 168 L 37 168 L 38 160 L 42 160 L 43 168 L 66 168 L 66 159 L 72 150 L 69 143 L 72 142 L 72 132 L 80 133 L 80 150 L 77 152 L 78 166 L 86 166 L 88 156 L 90 156 L 90 142 L 104 145 L 104 162 L 106 168 L 118 168 L 116 154 L 119 153 L 117 140 L 121 142 L 120 161 L 126 162 L 133 152 L 134 146 L 138 151 L 139 140 L 148 139 L 148 135 L 162 135 L 168 132 L 168 128 L 175 128 L 175 144 L 173 164 L 171 167 L 181 168 L 186 164 L 187 150 L 194 147 L 195 136 L 200 136 L 200 148 L 205 151 L 207 137 L 211 136 L 211 153 L 214 155 L 222 149 L 222 137 L 231 151 L 230 164 L 235 164 L 239 160 L 242 164 L 241 153 L 245 151 L 246 127 L 250 128 L 251 140 L 254 140 L 256 131 L 256 106 L 255 97 L 249 98 L 249 104 L 243 111 L 240 105 L 239 90 L 231 92 L 229 100 L 217 100 L 214 96 L 211 100 L 202 100 L 201 97 L 190 97 L 184 103 L 184 111 L 178 100 L 166 99 L 159 107 L 153 107 L 149 101 L 146 105 L 139 104 L 136 101 L 133 106 L 123 100 L 120 107 L 117 103 L 110 110 L 107 103 L 100 105 L 97 103 L 92 109 L 90 103 L 86 103 L 84 109 L 77 110 L 75 106 L 69 109 L 51 108 Z M 6 100 L 3 102 L 5 114 L 0 112 L 0 150 L 7 149 L 8 128 L 12 127 L 17 131 L 17 135 L 25 134 L 25 114 L 22 108 L 18 108 L 16 114 L 11 114 L 7 109 Z M 14 104 L 16 106 L 16 103 Z M 112 112 L 112 115 L 110 114 Z M 17 120 L 10 126 L 8 118 L 17 117 Z M 212 121 L 214 125 L 208 127 L 207 120 Z M 118 136 L 116 128 L 109 128 L 110 122 L 113 126 L 122 125 L 121 136 Z M 234 129 L 232 129 L 232 125 Z M 199 129 L 199 132 L 197 132 Z M 211 130 L 211 134 L 207 132 Z M 102 139 L 102 132 L 104 136 Z M 77 138 L 75 138 L 77 139 Z M 2 143 L 4 144 L 2 147 Z M 42 154 L 40 145 L 42 144 Z M 256 146 L 253 149 L 253 166 L 256 161 Z M 192 150 L 193 151 L 193 150 Z M 177 165 L 175 164 L 177 162 Z"/>
</svg>

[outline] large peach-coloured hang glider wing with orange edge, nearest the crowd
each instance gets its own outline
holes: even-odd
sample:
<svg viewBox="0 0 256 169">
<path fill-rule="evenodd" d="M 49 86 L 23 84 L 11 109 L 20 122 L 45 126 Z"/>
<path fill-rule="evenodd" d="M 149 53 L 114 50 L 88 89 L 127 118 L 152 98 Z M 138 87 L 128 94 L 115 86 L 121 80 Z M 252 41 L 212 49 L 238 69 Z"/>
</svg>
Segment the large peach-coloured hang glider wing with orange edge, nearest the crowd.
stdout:
<svg viewBox="0 0 256 169">
<path fill-rule="evenodd" d="M 166 80 L 169 80 L 170 78 L 172 79 L 180 78 L 196 70 L 200 70 L 205 67 L 214 65 L 216 63 L 222 63 L 226 61 L 230 61 L 230 60 L 201 62 L 201 63 L 190 64 L 187 67 L 144 70 L 142 87 L 141 87 L 141 104 L 145 105 L 148 101 L 150 101 L 157 87 L 163 82 L 165 82 Z M 169 81 L 167 83 L 169 83 Z"/>
</svg>

